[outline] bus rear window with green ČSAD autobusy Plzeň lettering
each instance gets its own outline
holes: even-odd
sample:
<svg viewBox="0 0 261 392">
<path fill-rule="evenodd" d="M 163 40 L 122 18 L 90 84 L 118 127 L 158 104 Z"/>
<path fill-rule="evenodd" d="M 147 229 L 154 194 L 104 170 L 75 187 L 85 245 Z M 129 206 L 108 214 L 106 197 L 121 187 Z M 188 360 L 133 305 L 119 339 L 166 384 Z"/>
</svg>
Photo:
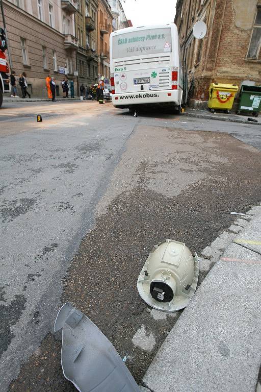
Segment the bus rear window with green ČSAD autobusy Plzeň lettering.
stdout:
<svg viewBox="0 0 261 392">
<path fill-rule="evenodd" d="M 113 37 L 113 58 L 171 52 L 171 28 L 137 30 Z"/>
</svg>

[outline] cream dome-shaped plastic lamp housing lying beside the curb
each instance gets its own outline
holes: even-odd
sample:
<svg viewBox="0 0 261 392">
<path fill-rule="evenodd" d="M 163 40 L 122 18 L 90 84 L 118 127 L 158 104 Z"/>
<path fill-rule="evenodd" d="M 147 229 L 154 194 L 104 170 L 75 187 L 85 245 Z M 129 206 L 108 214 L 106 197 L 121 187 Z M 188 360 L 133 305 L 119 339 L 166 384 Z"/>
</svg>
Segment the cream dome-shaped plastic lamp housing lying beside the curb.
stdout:
<svg viewBox="0 0 261 392">
<path fill-rule="evenodd" d="M 183 242 L 167 239 L 155 245 L 138 278 L 141 298 L 167 312 L 185 308 L 197 287 L 198 264 Z"/>
</svg>

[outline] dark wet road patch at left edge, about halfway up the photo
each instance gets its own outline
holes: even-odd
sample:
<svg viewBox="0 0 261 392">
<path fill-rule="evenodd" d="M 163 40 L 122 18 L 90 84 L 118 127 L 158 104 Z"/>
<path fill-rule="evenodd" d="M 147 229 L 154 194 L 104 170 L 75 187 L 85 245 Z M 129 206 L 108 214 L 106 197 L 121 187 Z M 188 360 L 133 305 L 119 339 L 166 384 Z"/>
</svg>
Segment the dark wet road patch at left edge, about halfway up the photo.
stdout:
<svg viewBox="0 0 261 392">
<path fill-rule="evenodd" d="M 3 205 L 0 208 L 2 222 L 12 222 L 12 220 L 18 216 L 32 211 L 33 205 L 36 203 L 37 199 L 35 198 L 22 198 L 11 201 L 5 199 Z"/>
</svg>

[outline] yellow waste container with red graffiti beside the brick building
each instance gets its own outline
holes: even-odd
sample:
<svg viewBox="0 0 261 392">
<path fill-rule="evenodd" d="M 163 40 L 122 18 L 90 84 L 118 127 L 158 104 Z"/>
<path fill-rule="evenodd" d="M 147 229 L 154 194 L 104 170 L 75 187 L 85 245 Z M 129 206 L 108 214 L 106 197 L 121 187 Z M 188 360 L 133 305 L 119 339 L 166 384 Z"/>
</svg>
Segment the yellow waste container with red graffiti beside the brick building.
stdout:
<svg viewBox="0 0 261 392">
<path fill-rule="evenodd" d="M 234 96 L 239 87 L 236 84 L 211 83 L 208 89 L 208 108 L 212 113 L 214 109 L 225 110 L 227 113 L 232 109 Z"/>
</svg>

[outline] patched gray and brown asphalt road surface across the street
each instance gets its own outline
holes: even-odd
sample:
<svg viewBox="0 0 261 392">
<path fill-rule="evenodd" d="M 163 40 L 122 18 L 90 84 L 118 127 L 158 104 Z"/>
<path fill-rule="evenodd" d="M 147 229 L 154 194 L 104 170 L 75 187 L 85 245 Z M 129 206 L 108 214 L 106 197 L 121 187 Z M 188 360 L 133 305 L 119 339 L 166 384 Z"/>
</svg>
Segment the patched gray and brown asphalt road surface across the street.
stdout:
<svg viewBox="0 0 261 392">
<path fill-rule="evenodd" d="M 147 311 L 136 289 L 140 269 L 166 238 L 200 253 L 231 224 L 230 211 L 260 201 L 260 133 L 160 112 L 135 118 L 96 102 L 6 104 L 1 391 L 75 390 L 53 334 L 67 300 L 139 381 L 179 316 Z"/>
</svg>

